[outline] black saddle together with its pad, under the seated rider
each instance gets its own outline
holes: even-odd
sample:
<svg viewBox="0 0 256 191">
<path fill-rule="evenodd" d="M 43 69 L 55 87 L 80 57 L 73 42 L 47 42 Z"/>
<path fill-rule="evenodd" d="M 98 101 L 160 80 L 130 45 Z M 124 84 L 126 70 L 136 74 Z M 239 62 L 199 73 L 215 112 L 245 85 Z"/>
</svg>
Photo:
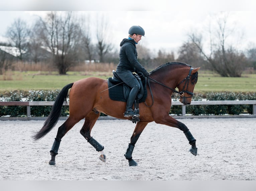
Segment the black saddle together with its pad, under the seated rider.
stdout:
<svg viewBox="0 0 256 191">
<path fill-rule="evenodd" d="M 126 102 L 131 88 L 123 83 L 123 81 L 117 76 L 114 70 L 112 72 L 112 78 L 108 79 L 109 97 L 110 99 L 115 101 Z M 133 76 L 140 83 L 140 90 L 135 100 L 139 101 L 139 103 L 144 102 L 147 97 L 145 77 L 141 72 L 139 72 L 138 74 L 133 74 Z"/>
</svg>

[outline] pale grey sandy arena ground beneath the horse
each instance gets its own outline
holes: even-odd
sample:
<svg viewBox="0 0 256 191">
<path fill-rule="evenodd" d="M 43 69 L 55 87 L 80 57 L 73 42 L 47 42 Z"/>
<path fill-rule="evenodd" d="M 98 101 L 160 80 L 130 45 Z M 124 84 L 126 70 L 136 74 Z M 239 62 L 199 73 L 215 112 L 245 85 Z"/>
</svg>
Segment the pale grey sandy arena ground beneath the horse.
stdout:
<svg viewBox="0 0 256 191">
<path fill-rule="evenodd" d="M 182 131 L 149 123 L 133 151 L 138 166 L 124 157 L 135 125 L 128 120 L 98 120 L 92 136 L 107 162 L 79 133 L 83 121 L 63 138 L 50 166 L 58 121 L 45 137 L 31 136 L 44 121 L 0 121 L 0 180 L 256 180 L 255 118 L 179 119 L 197 139 L 198 155 Z"/>
</svg>

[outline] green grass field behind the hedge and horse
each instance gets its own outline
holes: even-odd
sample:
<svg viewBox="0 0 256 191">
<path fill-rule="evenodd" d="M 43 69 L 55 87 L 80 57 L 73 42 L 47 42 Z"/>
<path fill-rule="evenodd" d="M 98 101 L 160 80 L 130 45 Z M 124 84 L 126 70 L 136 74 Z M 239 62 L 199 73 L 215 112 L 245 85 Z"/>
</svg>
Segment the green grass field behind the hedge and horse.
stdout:
<svg viewBox="0 0 256 191">
<path fill-rule="evenodd" d="M 111 72 L 68 72 L 58 75 L 56 72 L 9 72 L 0 75 L 0 94 L 11 91 L 56 90 L 87 77 L 107 79 Z M 195 93 L 206 92 L 256 92 L 256 74 L 244 74 L 241 78 L 224 78 L 207 71 L 199 71 Z"/>
</svg>

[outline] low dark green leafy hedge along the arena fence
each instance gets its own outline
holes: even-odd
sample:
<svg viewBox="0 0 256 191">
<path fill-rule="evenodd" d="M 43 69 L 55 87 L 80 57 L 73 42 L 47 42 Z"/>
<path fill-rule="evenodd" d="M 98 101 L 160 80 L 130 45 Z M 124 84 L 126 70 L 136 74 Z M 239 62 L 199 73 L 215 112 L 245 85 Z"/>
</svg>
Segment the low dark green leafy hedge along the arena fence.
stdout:
<svg viewBox="0 0 256 191">
<path fill-rule="evenodd" d="M 60 90 L 55 91 L 29 91 L 28 96 L 11 92 L 11 96 L 1 96 L 0 101 L 54 101 Z M 172 99 L 178 100 L 178 95 L 173 94 Z M 69 100 L 69 97 L 67 98 Z M 255 93 L 234 92 L 209 92 L 205 95 L 195 94 L 192 100 L 256 100 Z M 31 106 L 31 116 L 48 116 L 51 106 Z M 192 115 L 239 115 L 242 113 L 252 114 L 253 105 L 187 105 L 186 113 Z M 0 116 L 26 116 L 26 106 L 0 106 Z M 170 114 L 182 115 L 181 105 L 172 105 Z M 69 115 L 69 106 L 62 106 L 61 116 Z M 102 116 L 106 116 L 101 113 Z"/>
</svg>

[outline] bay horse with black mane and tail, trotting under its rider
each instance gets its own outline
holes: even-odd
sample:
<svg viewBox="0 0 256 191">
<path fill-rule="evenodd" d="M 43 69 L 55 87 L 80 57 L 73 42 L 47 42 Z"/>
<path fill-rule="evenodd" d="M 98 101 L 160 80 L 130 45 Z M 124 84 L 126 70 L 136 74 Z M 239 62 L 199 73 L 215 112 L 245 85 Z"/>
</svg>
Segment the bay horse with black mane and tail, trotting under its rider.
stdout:
<svg viewBox="0 0 256 191">
<path fill-rule="evenodd" d="M 199 68 L 192 68 L 190 65 L 179 62 L 169 62 L 157 67 L 146 77 L 147 96 L 144 102 L 139 103 L 139 121 L 128 143 L 128 148 L 124 154 L 129 166 L 137 166 L 137 162 L 132 158 L 135 144 L 142 131 L 148 123 L 155 123 L 176 127 L 183 131 L 191 148 L 189 151 L 197 155 L 196 139 L 193 137 L 188 127 L 169 115 L 171 107 L 171 96 L 173 93 L 179 94 L 179 101 L 184 105 L 191 103 L 193 91 L 198 81 Z M 69 92 L 69 111 L 67 120 L 58 127 L 56 137 L 50 150 L 50 165 L 55 165 L 55 156 L 62 137 L 80 120 L 85 119 L 80 130 L 81 135 L 100 153 L 99 159 L 106 162 L 104 146 L 91 136 L 91 130 L 95 125 L 100 113 L 118 118 L 127 119 L 123 113 L 126 102 L 110 99 L 108 80 L 97 77 L 89 77 L 68 84 L 59 92 L 52 106 L 48 118 L 43 127 L 33 135 L 35 141 L 45 136 L 57 123 L 61 113 L 61 107 L 66 101 Z M 178 91 L 175 89 L 178 88 Z M 70 91 L 69 91 L 70 90 Z"/>
</svg>

